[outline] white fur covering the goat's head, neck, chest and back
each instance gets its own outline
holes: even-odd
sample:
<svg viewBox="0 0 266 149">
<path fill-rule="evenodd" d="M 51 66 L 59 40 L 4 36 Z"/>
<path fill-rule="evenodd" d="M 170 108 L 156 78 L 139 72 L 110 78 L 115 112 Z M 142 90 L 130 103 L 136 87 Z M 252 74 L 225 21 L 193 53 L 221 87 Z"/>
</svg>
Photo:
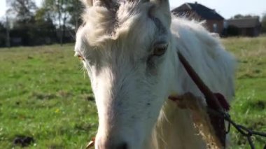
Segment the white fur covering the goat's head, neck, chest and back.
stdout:
<svg viewBox="0 0 266 149">
<path fill-rule="evenodd" d="M 171 15 L 165 12 L 169 3 L 160 4 L 123 2 L 115 13 L 103 6 L 86 8 L 75 52 L 85 59 L 97 104 L 96 148 L 114 148 L 123 142 L 140 149 L 206 148 L 190 112 L 167 100 L 170 94 L 186 92 L 203 99 L 177 51 L 213 92 L 226 99 L 234 95 L 235 60 L 218 38 L 197 22 L 172 16 L 169 24 Z M 157 17 L 167 32 L 158 34 L 149 15 Z M 169 43 L 167 52 L 153 56 L 150 63 L 147 59 L 158 41 Z"/>
</svg>

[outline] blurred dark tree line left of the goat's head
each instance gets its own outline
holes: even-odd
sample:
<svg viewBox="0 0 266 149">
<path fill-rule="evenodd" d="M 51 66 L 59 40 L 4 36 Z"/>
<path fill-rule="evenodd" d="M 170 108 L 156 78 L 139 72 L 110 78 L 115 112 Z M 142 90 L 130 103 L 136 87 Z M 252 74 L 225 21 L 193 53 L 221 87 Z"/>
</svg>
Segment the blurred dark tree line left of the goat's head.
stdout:
<svg viewBox="0 0 266 149">
<path fill-rule="evenodd" d="M 0 46 L 44 45 L 73 42 L 81 23 L 78 0 L 9 0 L 6 17 L 0 22 Z"/>
</svg>

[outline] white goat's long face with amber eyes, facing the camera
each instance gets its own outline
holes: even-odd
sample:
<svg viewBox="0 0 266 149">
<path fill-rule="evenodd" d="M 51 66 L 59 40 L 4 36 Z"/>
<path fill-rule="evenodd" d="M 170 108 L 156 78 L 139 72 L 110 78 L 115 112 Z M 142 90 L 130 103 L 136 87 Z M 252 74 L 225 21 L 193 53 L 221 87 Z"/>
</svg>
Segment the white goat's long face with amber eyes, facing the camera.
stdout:
<svg viewBox="0 0 266 149">
<path fill-rule="evenodd" d="M 75 51 L 97 104 L 96 148 L 146 148 L 169 93 L 169 3 L 85 3 Z"/>
</svg>

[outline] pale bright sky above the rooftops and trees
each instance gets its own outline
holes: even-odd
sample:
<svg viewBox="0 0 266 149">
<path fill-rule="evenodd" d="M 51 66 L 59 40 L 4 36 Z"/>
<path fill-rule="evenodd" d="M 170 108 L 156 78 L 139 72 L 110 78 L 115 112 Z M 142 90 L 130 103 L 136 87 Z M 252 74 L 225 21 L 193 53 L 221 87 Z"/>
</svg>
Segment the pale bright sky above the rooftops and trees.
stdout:
<svg viewBox="0 0 266 149">
<path fill-rule="evenodd" d="M 37 6 L 41 5 L 42 0 L 36 1 Z M 77 0 L 78 1 L 78 0 Z M 183 3 L 195 3 L 191 0 L 169 0 L 170 7 L 176 8 Z M 262 15 L 266 13 L 266 1 L 265 0 L 197 0 L 197 3 L 201 3 L 211 9 L 215 9 L 220 15 L 228 19 L 234 15 Z M 0 18 L 3 19 L 6 10 L 6 0 L 0 0 Z"/>
</svg>

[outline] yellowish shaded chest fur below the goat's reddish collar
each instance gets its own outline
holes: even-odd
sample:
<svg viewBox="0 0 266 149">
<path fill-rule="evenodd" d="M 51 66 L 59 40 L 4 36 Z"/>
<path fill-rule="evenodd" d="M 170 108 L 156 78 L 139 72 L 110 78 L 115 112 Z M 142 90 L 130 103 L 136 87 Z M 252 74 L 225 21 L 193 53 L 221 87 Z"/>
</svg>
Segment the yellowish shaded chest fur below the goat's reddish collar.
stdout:
<svg viewBox="0 0 266 149">
<path fill-rule="evenodd" d="M 166 101 L 153 132 L 153 148 L 206 148 L 188 110 Z"/>
</svg>

